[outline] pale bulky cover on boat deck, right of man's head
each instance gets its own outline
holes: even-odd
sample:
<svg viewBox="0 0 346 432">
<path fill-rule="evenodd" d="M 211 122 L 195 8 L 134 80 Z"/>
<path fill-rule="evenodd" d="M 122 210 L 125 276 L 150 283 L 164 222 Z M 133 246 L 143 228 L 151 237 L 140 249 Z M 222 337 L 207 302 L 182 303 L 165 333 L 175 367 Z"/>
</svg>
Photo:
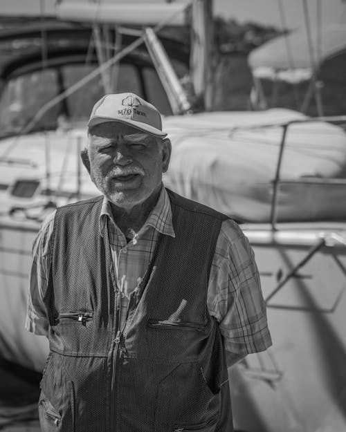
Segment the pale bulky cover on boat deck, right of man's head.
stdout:
<svg viewBox="0 0 346 432">
<path fill-rule="evenodd" d="M 288 109 L 166 118 L 172 159 L 165 184 L 236 220 L 269 222 L 280 124 L 306 118 Z M 280 178 L 286 182 L 279 189 L 278 220 L 345 219 L 343 129 L 318 121 L 291 125 Z"/>
</svg>

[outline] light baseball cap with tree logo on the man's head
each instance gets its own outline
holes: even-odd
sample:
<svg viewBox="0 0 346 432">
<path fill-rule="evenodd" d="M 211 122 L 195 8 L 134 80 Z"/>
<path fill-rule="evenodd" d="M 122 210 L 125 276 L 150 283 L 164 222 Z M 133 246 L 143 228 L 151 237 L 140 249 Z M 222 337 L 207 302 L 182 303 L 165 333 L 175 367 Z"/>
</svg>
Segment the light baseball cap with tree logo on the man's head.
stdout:
<svg viewBox="0 0 346 432">
<path fill-rule="evenodd" d="M 134 93 L 104 95 L 96 102 L 91 111 L 88 127 L 90 129 L 105 122 L 129 124 L 140 131 L 159 137 L 167 135 L 162 131 L 161 114 L 155 106 Z"/>
</svg>

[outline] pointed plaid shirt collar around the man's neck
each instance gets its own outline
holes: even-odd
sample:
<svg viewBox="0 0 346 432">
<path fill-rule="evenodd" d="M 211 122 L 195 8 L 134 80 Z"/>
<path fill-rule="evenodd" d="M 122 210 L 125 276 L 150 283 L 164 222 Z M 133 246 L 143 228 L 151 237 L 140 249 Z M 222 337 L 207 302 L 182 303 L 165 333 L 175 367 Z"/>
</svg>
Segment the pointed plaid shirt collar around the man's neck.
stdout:
<svg viewBox="0 0 346 432">
<path fill-rule="evenodd" d="M 111 220 L 116 229 L 119 229 L 114 221 L 109 200 L 107 200 L 107 198 L 104 196 L 99 221 L 101 236 L 103 236 L 107 219 Z M 143 232 L 147 226 L 153 227 L 156 229 L 156 231 L 161 232 L 161 234 L 175 237 L 172 223 L 172 207 L 170 204 L 170 197 L 168 196 L 165 187 L 161 187 L 161 192 L 157 203 L 154 209 L 152 209 L 152 212 L 149 214 L 145 224 L 140 229 L 140 232 Z"/>
</svg>

